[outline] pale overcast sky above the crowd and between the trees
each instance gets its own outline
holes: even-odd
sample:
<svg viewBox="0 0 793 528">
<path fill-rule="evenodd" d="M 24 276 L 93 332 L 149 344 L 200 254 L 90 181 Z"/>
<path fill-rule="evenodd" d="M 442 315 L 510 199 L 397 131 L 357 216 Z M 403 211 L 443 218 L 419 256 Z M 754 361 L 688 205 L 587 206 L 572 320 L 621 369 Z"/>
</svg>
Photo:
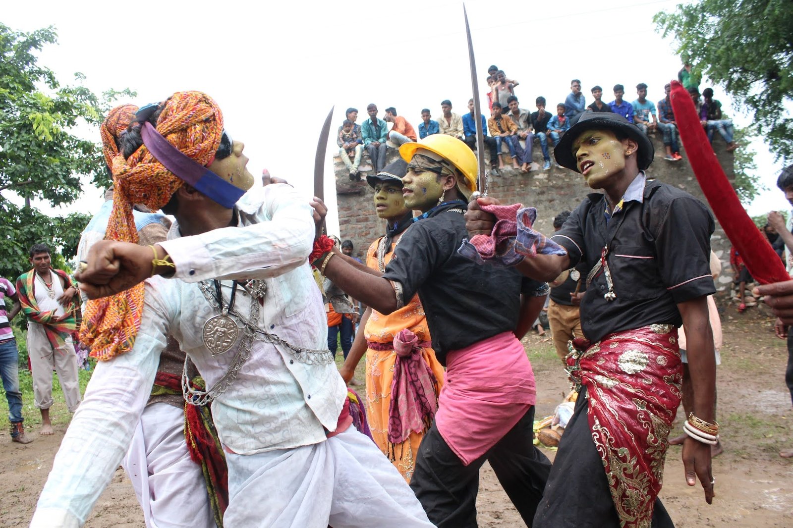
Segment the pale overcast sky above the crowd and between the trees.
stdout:
<svg viewBox="0 0 793 528">
<path fill-rule="evenodd" d="M 515 95 L 526 109 L 535 109 L 538 95 L 553 108 L 569 93 L 571 78 L 581 79 L 587 104 L 592 86 L 603 86 L 603 99 L 611 101 L 618 82 L 628 101 L 638 82 L 658 101 L 680 60 L 652 18 L 676 3 L 469 0 L 481 98 L 487 67 L 496 64 L 520 82 Z M 54 25 L 59 44 L 44 48 L 40 64 L 63 83 L 79 71 L 95 93 L 136 90 L 130 102 L 138 105 L 178 90 L 206 92 L 223 109 L 228 132 L 245 143 L 257 185 L 266 167 L 306 197 L 332 105 L 335 132 L 349 106 L 360 110 L 358 122 L 370 102 L 380 117 L 394 106 L 417 127 L 424 107 L 438 117 L 440 101 L 448 98 L 455 112 L 465 113 L 471 97 L 462 2 L 6 2 L 2 22 L 18 31 Z M 718 86 L 714 91 L 736 124 L 749 122 Z M 86 134 L 99 140 L 96 129 Z M 749 212 L 789 209 L 774 185 L 781 165 L 762 141 L 753 147 L 768 190 Z M 335 149 L 331 137 L 325 169 L 331 210 Z M 64 210 L 93 213 L 99 205 L 101 193 L 86 186 Z M 338 226 L 333 212 L 328 225 L 331 232 Z"/>
</svg>

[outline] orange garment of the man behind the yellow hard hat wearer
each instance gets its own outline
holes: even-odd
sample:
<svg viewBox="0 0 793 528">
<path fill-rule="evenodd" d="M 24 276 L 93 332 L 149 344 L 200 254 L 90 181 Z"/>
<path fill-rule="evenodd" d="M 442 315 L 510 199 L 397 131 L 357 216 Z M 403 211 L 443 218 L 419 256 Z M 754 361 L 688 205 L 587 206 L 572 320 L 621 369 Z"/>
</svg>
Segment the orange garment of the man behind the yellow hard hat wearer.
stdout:
<svg viewBox="0 0 793 528">
<path fill-rule="evenodd" d="M 366 252 L 366 266 L 377 270 L 377 239 Z M 383 258 L 383 265 L 388 264 L 393 257 L 393 247 Z M 427 328 L 427 318 L 424 316 L 424 308 L 416 295 L 409 303 L 405 304 L 396 312 L 384 316 L 380 312 L 372 310 L 369 321 L 364 328 L 366 342 L 383 343 L 393 345 L 394 336 L 405 328 L 412 331 L 419 338 L 419 342 L 430 342 L 430 331 Z M 444 371 L 442 365 L 435 358 L 435 352 L 430 347 L 421 350 L 424 361 L 427 362 L 435 378 L 438 380 L 436 393 L 440 393 L 443 385 Z M 423 433 L 413 431 L 410 437 L 404 442 L 391 445 L 388 440 L 389 429 L 389 404 L 391 402 L 391 384 L 394 375 L 394 363 L 396 362 L 396 352 L 393 350 L 373 350 L 368 347 L 366 350 L 366 417 L 369 419 L 369 427 L 372 431 L 372 438 L 377 447 L 387 456 L 393 465 L 404 476 L 408 483 L 413 475 L 416 453 L 419 451 L 419 444 L 423 438 Z"/>
</svg>

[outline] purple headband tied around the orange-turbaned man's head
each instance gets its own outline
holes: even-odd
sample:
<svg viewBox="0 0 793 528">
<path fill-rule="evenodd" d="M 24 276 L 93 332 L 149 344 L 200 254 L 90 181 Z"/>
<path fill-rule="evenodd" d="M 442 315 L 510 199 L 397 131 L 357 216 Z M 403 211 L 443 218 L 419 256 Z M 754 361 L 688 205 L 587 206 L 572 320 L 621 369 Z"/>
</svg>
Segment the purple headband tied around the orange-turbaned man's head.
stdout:
<svg viewBox="0 0 793 528">
<path fill-rule="evenodd" d="M 237 200 L 245 194 L 243 189 L 220 178 L 212 170 L 197 163 L 170 144 L 148 121 L 140 127 L 140 136 L 143 137 L 144 145 L 151 155 L 167 170 L 226 209 L 234 209 Z"/>
</svg>

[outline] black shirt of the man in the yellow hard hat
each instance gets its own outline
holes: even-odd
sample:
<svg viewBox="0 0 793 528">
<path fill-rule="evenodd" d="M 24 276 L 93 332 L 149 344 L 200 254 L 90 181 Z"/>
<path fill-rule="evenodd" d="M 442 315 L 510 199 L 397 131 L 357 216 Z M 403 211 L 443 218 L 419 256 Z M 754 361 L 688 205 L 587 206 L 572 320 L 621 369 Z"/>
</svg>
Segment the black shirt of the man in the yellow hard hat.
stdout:
<svg viewBox="0 0 793 528">
<path fill-rule="evenodd" d="M 400 282 L 404 299 L 419 294 L 441 365 L 450 350 L 514 331 L 521 293 L 548 291 L 513 268 L 481 266 L 458 254 L 468 233 L 462 214 L 448 210 L 454 208 L 465 204 L 442 205 L 408 228 L 383 275 Z"/>
</svg>

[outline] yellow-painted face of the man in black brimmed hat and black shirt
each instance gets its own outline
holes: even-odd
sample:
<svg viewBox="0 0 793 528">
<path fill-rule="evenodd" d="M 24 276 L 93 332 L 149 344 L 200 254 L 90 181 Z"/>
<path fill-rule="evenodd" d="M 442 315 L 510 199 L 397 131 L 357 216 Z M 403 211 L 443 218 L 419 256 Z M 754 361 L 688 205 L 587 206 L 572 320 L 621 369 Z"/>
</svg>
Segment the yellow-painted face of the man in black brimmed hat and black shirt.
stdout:
<svg viewBox="0 0 793 528">
<path fill-rule="evenodd" d="M 592 189 L 601 189 L 625 169 L 625 144 L 611 130 L 587 130 L 573 142 L 578 170 Z"/>
</svg>

